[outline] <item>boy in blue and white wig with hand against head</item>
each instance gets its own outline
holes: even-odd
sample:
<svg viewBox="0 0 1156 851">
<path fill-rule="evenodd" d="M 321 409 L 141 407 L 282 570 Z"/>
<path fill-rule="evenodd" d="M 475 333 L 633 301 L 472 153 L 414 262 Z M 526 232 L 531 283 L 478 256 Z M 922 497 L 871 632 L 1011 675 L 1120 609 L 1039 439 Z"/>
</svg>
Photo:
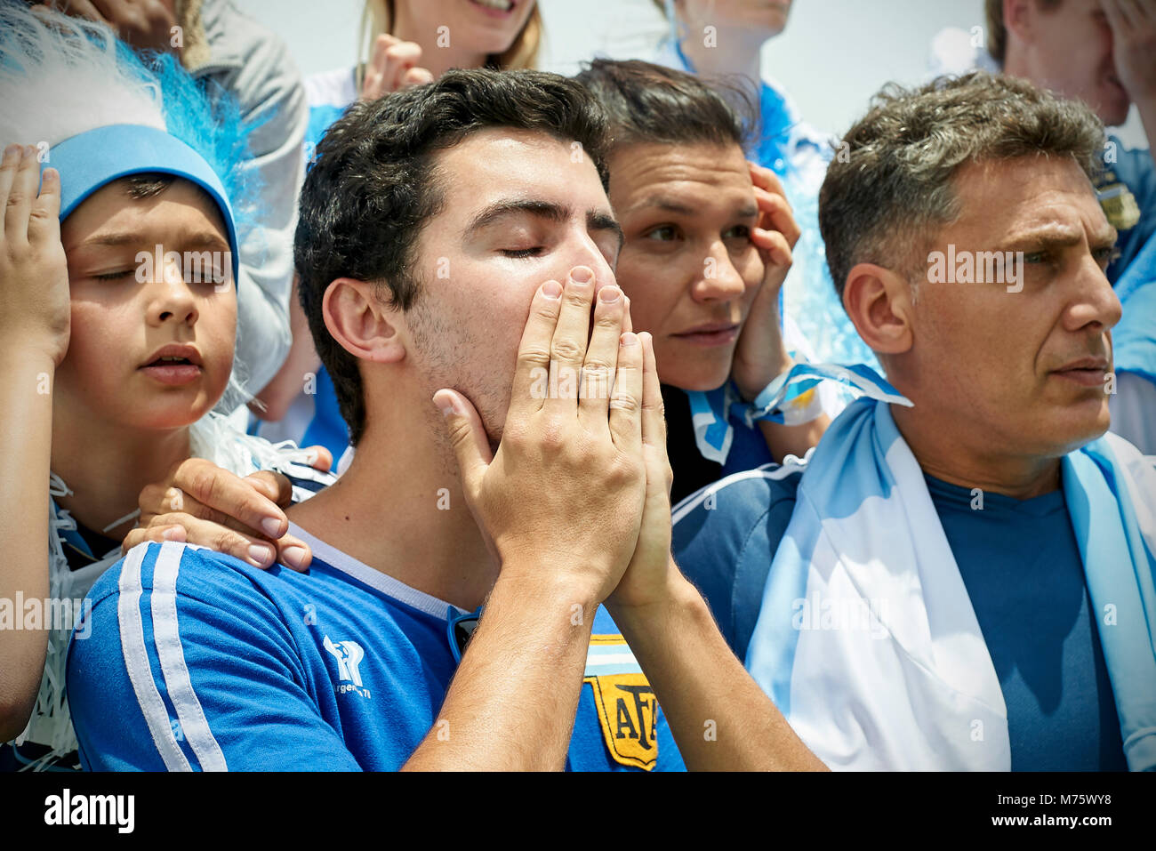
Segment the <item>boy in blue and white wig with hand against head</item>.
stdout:
<svg viewBox="0 0 1156 851">
<path fill-rule="evenodd" d="M 210 414 L 237 334 L 229 199 L 243 190 L 230 178 L 244 136 L 228 104 L 214 112 L 171 60 L 146 67 L 102 27 L 6 3 L 0 32 L 0 141 L 37 142 L 9 145 L 0 163 L 14 458 L 0 481 L 0 739 L 17 742 L 0 760 L 68 767 L 68 637 L 81 598 L 120 555 L 142 488 L 190 456 L 237 475 L 326 480 L 306 452 Z M 296 496 L 307 494 L 303 484 Z"/>
</svg>

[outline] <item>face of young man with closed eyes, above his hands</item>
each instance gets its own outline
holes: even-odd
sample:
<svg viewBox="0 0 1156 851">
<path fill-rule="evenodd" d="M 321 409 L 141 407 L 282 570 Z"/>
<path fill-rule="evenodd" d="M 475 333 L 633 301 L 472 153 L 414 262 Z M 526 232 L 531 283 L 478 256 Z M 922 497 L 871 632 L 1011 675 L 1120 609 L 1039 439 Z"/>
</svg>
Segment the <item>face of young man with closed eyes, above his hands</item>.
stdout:
<svg viewBox="0 0 1156 851">
<path fill-rule="evenodd" d="M 418 238 L 421 293 L 407 313 L 424 406 L 464 393 L 490 439 L 502 435 L 529 303 L 571 268 L 614 283 L 621 230 L 598 170 L 578 143 L 484 130 L 437 157 L 442 212 Z"/>
</svg>

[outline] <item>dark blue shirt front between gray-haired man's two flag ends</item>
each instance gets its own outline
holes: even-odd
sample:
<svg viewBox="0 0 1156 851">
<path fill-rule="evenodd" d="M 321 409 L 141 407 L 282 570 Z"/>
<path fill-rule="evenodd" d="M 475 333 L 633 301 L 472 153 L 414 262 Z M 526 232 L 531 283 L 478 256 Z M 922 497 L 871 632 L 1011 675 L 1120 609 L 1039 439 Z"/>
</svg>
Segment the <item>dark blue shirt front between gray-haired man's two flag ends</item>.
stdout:
<svg viewBox="0 0 1156 851">
<path fill-rule="evenodd" d="M 1054 490 L 1032 500 L 924 476 L 995 665 L 1013 771 L 1127 771 L 1083 563 Z"/>
</svg>

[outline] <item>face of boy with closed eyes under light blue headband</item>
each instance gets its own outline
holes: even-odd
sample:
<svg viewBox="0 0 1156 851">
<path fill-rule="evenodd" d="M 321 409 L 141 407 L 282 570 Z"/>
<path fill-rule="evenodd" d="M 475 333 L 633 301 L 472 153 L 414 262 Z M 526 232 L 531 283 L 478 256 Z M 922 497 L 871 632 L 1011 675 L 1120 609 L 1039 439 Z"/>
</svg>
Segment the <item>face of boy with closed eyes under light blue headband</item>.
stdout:
<svg viewBox="0 0 1156 851">
<path fill-rule="evenodd" d="M 216 205 L 181 179 L 139 200 L 118 180 L 86 199 L 60 236 L 72 333 L 58 414 L 135 429 L 199 420 L 228 386 L 237 325 Z"/>
</svg>

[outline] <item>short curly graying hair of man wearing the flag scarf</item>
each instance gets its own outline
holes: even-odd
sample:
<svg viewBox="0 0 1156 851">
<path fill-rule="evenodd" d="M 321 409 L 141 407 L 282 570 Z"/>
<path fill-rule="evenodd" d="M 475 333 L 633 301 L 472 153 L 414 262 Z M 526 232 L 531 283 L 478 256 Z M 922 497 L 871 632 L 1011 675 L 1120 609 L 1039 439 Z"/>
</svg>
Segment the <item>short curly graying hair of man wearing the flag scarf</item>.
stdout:
<svg viewBox="0 0 1156 851">
<path fill-rule="evenodd" d="M 961 166 L 1070 156 L 1095 180 L 1103 151 L 1104 127 L 1088 106 L 1025 80 L 975 72 L 884 87 L 843 138 L 818 194 L 839 297 L 857 264 L 907 274 L 926 257 L 939 229 L 959 216 L 953 178 Z"/>
</svg>

